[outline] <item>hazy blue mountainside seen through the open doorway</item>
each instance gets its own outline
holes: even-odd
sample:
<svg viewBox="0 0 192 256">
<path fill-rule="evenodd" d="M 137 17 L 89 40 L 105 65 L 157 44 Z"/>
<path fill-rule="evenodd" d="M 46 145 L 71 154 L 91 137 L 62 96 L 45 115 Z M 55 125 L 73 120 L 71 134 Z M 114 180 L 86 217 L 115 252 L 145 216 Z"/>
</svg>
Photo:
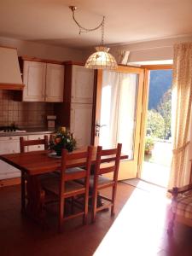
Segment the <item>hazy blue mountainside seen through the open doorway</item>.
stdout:
<svg viewBox="0 0 192 256">
<path fill-rule="evenodd" d="M 172 70 L 151 70 L 148 110 L 157 109 L 161 97 L 172 86 Z"/>
</svg>

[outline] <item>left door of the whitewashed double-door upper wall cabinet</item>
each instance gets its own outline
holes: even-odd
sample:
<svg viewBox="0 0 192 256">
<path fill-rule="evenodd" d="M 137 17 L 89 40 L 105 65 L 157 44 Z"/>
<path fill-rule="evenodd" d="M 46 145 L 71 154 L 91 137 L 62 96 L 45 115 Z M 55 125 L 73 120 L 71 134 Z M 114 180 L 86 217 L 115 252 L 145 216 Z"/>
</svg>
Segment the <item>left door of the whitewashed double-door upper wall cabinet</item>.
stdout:
<svg viewBox="0 0 192 256">
<path fill-rule="evenodd" d="M 44 102 L 46 63 L 24 61 L 23 101 Z"/>
</svg>

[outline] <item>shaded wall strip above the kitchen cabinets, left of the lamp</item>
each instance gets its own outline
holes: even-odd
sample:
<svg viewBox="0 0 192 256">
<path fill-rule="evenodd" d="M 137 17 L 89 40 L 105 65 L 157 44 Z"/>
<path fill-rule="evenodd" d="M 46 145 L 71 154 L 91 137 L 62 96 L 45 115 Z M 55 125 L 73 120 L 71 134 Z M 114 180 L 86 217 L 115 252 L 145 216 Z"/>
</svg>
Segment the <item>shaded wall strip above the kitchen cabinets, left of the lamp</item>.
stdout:
<svg viewBox="0 0 192 256">
<path fill-rule="evenodd" d="M 0 37 L 0 45 L 17 48 L 19 56 L 28 55 L 55 61 L 82 61 L 84 56 L 82 50 L 79 49 L 33 43 L 14 38 Z"/>
</svg>

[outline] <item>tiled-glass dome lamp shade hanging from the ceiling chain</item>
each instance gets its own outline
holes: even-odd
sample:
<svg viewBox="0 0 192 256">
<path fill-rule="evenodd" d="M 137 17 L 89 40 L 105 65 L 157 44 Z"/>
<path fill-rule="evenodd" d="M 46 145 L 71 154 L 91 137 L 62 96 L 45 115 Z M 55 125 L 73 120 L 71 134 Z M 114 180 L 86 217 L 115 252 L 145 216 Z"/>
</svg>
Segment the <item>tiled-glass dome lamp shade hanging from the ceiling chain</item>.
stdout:
<svg viewBox="0 0 192 256">
<path fill-rule="evenodd" d="M 96 52 L 87 59 L 86 68 L 92 69 L 116 69 L 118 67 L 113 55 L 108 53 L 109 48 L 104 46 L 96 47 Z"/>
</svg>

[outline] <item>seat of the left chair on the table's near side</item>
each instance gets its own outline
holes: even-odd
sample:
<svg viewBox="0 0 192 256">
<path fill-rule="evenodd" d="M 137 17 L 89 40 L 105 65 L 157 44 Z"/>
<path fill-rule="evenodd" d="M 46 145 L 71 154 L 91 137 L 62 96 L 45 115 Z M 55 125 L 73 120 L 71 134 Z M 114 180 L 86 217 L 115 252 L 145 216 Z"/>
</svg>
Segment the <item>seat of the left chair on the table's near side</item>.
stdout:
<svg viewBox="0 0 192 256">
<path fill-rule="evenodd" d="M 47 190 L 55 195 L 59 195 L 59 188 L 60 188 L 60 178 L 53 177 L 52 179 L 44 179 L 42 181 L 42 187 L 44 190 Z M 70 195 L 71 192 L 76 191 L 77 194 L 84 193 L 84 186 L 80 183 L 76 183 L 73 181 L 67 181 L 65 183 L 65 195 Z"/>
</svg>

